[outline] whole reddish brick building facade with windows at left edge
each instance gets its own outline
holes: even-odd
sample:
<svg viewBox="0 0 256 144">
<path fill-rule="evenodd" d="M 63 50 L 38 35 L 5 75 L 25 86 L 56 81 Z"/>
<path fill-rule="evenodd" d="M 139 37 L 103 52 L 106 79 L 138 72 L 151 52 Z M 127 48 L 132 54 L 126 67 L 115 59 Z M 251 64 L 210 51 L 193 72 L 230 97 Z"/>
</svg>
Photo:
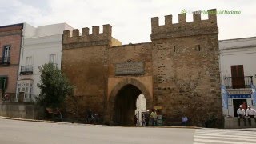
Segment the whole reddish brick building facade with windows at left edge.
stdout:
<svg viewBox="0 0 256 144">
<path fill-rule="evenodd" d="M 0 90 L 14 97 L 22 46 L 23 24 L 0 26 Z M 2 95 L 0 96 L 2 98 Z"/>
</svg>

